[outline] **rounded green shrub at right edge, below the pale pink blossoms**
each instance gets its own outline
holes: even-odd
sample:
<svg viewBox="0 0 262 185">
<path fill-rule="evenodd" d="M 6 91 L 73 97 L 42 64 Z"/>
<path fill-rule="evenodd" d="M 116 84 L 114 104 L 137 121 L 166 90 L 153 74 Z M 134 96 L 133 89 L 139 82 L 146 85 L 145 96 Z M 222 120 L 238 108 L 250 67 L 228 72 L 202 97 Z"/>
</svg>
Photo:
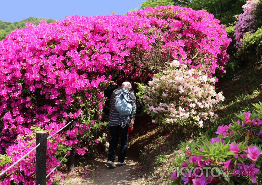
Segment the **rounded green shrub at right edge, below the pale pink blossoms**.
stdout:
<svg viewBox="0 0 262 185">
<path fill-rule="evenodd" d="M 243 61 L 262 61 L 262 27 L 255 33 L 246 33 L 241 39 L 242 46 L 238 51 L 239 59 Z"/>
</svg>

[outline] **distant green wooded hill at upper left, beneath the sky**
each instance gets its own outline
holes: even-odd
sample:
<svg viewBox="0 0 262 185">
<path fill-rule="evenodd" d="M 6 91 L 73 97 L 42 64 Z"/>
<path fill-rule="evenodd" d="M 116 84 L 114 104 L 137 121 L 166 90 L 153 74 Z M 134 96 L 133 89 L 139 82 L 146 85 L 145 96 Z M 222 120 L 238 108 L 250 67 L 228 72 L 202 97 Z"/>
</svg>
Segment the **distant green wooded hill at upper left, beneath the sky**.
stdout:
<svg viewBox="0 0 262 185">
<path fill-rule="evenodd" d="M 29 17 L 19 22 L 16 21 L 14 23 L 0 20 L 0 41 L 6 38 L 6 35 L 12 32 L 13 30 L 25 27 L 25 23 L 33 23 L 35 25 L 38 25 L 42 19 L 44 18 Z M 52 23 L 55 21 L 54 19 L 45 19 L 45 20 L 47 23 Z"/>
</svg>

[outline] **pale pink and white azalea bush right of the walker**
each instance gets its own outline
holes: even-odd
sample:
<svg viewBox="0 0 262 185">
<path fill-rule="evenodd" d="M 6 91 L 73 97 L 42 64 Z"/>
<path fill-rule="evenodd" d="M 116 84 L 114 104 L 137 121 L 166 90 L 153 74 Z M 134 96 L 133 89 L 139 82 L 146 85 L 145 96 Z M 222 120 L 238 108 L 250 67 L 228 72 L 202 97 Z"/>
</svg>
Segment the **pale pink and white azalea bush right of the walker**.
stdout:
<svg viewBox="0 0 262 185">
<path fill-rule="evenodd" d="M 204 121 L 214 116 L 214 106 L 224 100 L 222 92 L 215 92 L 214 82 L 215 77 L 208 78 L 174 60 L 154 74 L 148 86 L 138 84 L 138 100 L 155 117 L 152 122 L 203 127 Z"/>
</svg>

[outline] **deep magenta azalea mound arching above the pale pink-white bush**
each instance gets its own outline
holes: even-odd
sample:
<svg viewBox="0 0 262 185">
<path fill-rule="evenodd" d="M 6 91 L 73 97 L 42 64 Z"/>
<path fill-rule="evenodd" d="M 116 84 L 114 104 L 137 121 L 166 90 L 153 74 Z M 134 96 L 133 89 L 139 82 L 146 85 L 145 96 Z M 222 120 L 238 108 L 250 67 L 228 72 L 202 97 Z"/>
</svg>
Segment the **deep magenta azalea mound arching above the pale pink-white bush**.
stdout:
<svg viewBox="0 0 262 185">
<path fill-rule="evenodd" d="M 177 59 L 190 68 L 201 68 L 210 77 L 216 69 L 224 71 L 223 65 L 228 61 L 226 48 L 231 39 L 214 15 L 205 10 L 169 5 L 139 9 L 128 12 L 127 16 L 148 18 L 150 29 L 141 31 L 155 38 L 151 52 L 144 53 L 144 58 L 134 55 L 136 68 L 155 71 L 159 65 L 163 67 L 165 61 Z"/>
</svg>

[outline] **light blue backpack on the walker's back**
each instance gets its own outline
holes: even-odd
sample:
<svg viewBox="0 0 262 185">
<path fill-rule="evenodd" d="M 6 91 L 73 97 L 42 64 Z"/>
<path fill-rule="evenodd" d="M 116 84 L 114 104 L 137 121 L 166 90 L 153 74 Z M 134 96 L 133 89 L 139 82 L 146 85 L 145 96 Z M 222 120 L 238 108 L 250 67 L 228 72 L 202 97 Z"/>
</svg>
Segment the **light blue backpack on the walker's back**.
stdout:
<svg viewBox="0 0 262 185">
<path fill-rule="evenodd" d="M 121 115 L 128 116 L 132 112 L 132 100 L 128 96 L 128 89 L 124 88 L 116 98 L 115 110 Z"/>
</svg>

